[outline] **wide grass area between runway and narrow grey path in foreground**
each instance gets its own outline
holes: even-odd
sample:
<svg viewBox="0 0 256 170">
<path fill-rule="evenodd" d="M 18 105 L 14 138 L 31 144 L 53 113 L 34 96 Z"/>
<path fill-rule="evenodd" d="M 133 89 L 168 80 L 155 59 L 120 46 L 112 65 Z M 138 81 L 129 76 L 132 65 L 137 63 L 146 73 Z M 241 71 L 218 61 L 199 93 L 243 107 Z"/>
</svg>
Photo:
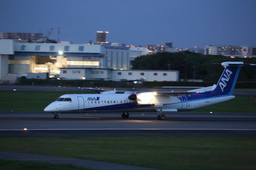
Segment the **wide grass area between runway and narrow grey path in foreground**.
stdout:
<svg viewBox="0 0 256 170">
<path fill-rule="evenodd" d="M 0 150 L 172 170 L 255 169 L 252 137 L 1 138 Z"/>
</svg>

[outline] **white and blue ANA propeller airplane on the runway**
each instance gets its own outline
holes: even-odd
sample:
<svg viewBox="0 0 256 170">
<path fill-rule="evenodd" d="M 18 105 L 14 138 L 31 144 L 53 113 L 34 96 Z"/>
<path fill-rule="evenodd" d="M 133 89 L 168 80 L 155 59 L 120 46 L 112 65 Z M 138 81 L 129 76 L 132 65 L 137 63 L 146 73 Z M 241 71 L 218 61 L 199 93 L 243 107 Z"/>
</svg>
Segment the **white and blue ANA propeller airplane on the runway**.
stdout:
<svg viewBox="0 0 256 170">
<path fill-rule="evenodd" d="M 234 99 L 232 95 L 241 66 L 256 65 L 243 62 L 215 63 L 224 66 L 217 83 L 190 91 L 117 91 L 116 89 L 82 88 L 100 94 L 67 94 L 50 103 L 44 111 L 58 113 L 120 112 L 128 118 L 129 112 L 158 113 L 158 120 L 165 120 L 163 113 L 190 111 Z"/>
</svg>

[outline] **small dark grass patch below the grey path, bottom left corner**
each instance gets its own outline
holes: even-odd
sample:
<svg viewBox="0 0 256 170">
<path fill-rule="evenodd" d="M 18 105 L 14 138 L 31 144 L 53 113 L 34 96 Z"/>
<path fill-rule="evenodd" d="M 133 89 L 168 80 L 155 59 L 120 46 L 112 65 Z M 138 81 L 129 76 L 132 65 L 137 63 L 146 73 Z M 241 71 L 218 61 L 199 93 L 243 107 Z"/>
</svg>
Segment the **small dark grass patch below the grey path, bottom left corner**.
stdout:
<svg viewBox="0 0 256 170">
<path fill-rule="evenodd" d="M 17 160 L 0 160 L 1 170 L 89 170 L 73 165 L 50 164 L 45 162 L 21 162 Z"/>
</svg>

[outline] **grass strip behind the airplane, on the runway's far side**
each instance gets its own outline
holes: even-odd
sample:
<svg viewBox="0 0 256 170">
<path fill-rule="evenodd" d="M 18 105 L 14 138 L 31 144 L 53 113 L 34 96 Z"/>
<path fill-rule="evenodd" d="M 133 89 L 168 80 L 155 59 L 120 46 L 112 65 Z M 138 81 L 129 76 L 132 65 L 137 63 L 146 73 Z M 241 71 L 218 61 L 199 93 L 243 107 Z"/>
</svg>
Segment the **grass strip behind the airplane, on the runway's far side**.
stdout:
<svg viewBox="0 0 256 170">
<path fill-rule="evenodd" d="M 0 91 L 0 111 L 43 111 L 51 102 L 70 91 Z M 256 113 L 256 97 L 236 96 L 235 99 L 194 110 L 194 112 Z"/>
</svg>

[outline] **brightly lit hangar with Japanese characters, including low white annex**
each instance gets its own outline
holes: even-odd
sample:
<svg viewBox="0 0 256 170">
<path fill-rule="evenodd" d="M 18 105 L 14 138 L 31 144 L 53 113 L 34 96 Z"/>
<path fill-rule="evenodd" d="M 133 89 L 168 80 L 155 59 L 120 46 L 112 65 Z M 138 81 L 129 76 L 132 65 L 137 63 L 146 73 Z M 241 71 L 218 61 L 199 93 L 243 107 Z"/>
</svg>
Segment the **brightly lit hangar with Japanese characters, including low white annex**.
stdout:
<svg viewBox="0 0 256 170">
<path fill-rule="evenodd" d="M 14 40 L 0 39 L 0 83 L 3 83 L 8 76 L 28 73 L 49 73 L 60 75 L 65 79 L 178 81 L 178 71 L 164 73 L 151 71 L 151 73 L 144 70 L 142 73 L 142 71 L 128 70 L 129 68 L 129 47 L 18 43 Z"/>
</svg>

